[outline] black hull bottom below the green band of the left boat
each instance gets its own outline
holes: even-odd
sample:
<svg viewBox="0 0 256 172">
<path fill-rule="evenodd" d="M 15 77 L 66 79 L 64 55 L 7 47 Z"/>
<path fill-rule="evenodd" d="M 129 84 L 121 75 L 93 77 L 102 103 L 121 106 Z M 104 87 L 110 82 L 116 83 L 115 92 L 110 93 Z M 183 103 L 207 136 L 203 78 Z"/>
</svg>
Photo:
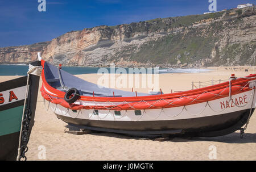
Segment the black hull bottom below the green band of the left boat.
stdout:
<svg viewBox="0 0 256 172">
<path fill-rule="evenodd" d="M 16 160 L 19 146 L 19 132 L 0 136 L 0 160 Z"/>
</svg>

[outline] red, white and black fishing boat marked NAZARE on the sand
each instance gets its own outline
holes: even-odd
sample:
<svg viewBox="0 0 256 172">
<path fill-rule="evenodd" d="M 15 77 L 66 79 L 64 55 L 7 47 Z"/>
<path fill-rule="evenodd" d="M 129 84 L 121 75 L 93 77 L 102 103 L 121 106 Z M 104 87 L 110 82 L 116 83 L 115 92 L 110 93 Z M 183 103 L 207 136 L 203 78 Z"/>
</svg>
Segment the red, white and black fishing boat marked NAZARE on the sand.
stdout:
<svg viewBox="0 0 256 172">
<path fill-rule="evenodd" d="M 243 132 L 255 108 L 256 74 L 180 93 L 151 95 L 84 81 L 42 61 L 44 100 L 68 126 L 136 136 Z"/>
</svg>

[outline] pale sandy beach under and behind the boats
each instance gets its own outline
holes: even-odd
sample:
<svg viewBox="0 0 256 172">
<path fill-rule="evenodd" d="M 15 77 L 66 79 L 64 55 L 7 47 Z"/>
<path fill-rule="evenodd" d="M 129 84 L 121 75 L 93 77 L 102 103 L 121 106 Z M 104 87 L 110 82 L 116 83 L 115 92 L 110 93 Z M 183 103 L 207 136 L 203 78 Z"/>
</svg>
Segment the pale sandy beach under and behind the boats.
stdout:
<svg viewBox="0 0 256 172">
<path fill-rule="evenodd" d="M 225 68 L 209 68 L 213 70 L 204 73 L 160 74 L 159 87 L 163 93 L 170 93 L 171 90 L 191 90 L 192 82 L 224 80 L 232 73 L 236 74 L 236 77 L 253 73 L 253 68 L 246 66 Z M 245 72 L 245 69 L 249 69 L 249 72 Z M 0 76 L 0 82 L 17 77 Z M 97 83 L 100 75 L 82 74 L 77 77 Z M 39 86 L 41 85 L 42 81 Z M 148 92 L 148 88 L 136 90 Z M 255 124 L 256 112 L 250 119 L 243 139 L 240 139 L 239 131 L 221 137 L 175 137 L 164 142 L 104 132 L 72 135 L 64 133 L 66 124 L 57 119 L 51 110 L 47 111 L 39 91 L 35 125 L 26 156 L 28 160 L 40 160 L 38 154 L 41 151 L 40 145 L 43 145 L 46 148 L 44 160 L 210 160 L 209 146 L 213 145 L 217 150 L 216 160 L 256 160 Z"/>
</svg>

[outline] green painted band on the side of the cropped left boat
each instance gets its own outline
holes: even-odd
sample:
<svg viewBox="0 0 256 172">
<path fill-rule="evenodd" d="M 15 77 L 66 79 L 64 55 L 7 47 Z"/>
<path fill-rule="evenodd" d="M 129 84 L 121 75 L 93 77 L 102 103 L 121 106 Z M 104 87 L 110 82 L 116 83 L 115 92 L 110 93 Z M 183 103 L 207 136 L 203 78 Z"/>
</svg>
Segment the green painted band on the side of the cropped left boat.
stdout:
<svg viewBox="0 0 256 172">
<path fill-rule="evenodd" d="M 0 136 L 20 131 L 23 106 L 0 111 Z"/>
</svg>

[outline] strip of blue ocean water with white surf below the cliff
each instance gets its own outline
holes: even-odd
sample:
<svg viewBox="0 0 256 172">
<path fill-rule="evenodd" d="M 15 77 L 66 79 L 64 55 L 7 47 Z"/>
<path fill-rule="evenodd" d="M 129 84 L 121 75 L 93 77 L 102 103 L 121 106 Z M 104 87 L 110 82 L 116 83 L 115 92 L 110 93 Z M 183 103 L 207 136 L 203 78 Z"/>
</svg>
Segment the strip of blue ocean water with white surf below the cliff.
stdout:
<svg viewBox="0 0 256 172">
<path fill-rule="evenodd" d="M 91 67 L 67 67 L 63 66 L 63 70 L 71 74 L 88 74 L 88 73 L 98 73 L 102 68 L 91 68 Z M 101 69 L 101 70 L 99 70 Z M 120 72 L 119 68 L 111 69 L 105 68 L 109 73 Z M 123 72 L 133 73 L 133 69 L 123 68 Z M 106 71 L 105 70 L 105 71 Z M 0 75 L 27 75 L 28 65 L 0 65 Z M 154 69 L 141 69 L 141 73 L 154 73 Z M 198 73 L 198 72 L 208 72 L 208 69 L 159 69 L 159 73 Z M 135 72 L 135 70 L 134 70 Z M 139 73 L 138 71 L 135 73 Z"/>
</svg>

